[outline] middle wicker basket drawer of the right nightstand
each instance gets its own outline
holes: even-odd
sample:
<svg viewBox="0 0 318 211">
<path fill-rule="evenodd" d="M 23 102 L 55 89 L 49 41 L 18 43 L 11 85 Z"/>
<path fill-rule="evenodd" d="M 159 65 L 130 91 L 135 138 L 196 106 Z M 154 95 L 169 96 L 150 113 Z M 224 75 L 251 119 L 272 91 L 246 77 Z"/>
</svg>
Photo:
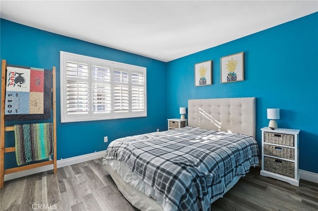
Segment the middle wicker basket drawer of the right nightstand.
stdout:
<svg viewBox="0 0 318 211">
<path fill-rule="evenodd" d="M 295 149 L 264 144 L 264 154 L 279 158 L 295 159 Z"/>
</svg>

